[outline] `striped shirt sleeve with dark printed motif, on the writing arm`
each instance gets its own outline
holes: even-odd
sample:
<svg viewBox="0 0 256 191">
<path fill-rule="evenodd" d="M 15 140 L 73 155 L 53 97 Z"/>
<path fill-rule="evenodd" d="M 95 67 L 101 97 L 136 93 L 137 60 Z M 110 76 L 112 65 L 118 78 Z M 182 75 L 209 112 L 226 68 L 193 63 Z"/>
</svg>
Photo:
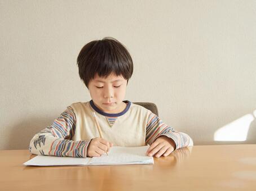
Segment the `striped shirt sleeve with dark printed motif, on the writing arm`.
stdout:
<svg viewBox="0 0 256 191">
<path fill-rule="evenodd" d="M 39 155 L 86 157 L 90 140 L 71 140 L 75 130 L 76 115 L 69 106 L 50 126 L 34 135 L 29 151 Z"/>
</svg>

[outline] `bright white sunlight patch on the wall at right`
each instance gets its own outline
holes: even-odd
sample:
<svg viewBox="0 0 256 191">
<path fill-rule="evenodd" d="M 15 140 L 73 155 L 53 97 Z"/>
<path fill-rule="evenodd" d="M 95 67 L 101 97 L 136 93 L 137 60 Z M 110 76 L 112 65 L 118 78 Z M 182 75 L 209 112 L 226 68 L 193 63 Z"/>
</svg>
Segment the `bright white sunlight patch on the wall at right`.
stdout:
<svg viewBox="0 0 256 191">
<path fill-rule="evenodd" d="M 256 116 L 256 110 L 253 112 Z M 214 140 L 216 141 L 245 141 L 247 138 L 248 130 L 254 116 L 247 114 L 239 119 L 231 122 L 218 129 L 214 133 Z"/>
</svg>

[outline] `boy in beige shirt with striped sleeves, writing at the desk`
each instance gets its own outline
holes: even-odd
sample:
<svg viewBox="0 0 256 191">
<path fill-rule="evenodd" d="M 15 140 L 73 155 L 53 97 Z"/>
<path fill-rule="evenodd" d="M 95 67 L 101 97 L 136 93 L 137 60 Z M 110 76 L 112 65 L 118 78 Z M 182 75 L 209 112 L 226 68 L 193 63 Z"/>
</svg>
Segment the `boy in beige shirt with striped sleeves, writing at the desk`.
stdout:
<svg viewBox="0 0 256 191">
<path fill-rule="evenodd" d="M 133 60 L 116 39 L 104 38 L 86 44 L 78 55 L 77 65 L 91 101 L 71 104 L 50 126 L 34 135 L 29 145 L 31 153 L 99 157 L 113 145 L 150 144 L 146 154 L 160 157 L 193 145 L 187 134 L 170 128 L 151 111 L 123 101 L 133 74 Z M 99 138 L 93 112 L 103 138 Z"/>
</svg>

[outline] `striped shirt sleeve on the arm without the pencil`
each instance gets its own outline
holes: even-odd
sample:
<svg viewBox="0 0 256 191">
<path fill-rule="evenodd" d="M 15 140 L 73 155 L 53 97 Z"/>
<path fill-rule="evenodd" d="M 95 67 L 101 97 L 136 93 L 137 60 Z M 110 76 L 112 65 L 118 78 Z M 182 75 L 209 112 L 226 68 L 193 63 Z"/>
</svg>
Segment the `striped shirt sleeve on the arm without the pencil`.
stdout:
<svg viewBox="0 0 256 191">
<path fill-rule="evenodd" d="M 162 135 L 174 140 L 176 144 L 175 149 L 193 145 L 193 140 L 186 133 L 175 131 L 173 128 L 162 122 L 157 115 L 151 112 L 147 121 L 145 143 L 152 144 Z"/>
</svg>

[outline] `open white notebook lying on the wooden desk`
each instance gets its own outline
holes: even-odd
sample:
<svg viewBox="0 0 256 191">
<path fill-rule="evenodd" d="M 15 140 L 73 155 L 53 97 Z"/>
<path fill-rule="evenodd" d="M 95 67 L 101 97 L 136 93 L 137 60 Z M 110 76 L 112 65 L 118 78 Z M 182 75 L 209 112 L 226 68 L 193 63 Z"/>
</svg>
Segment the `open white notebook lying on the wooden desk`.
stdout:
<svg viewBox="0 0 256 191">
<path fill-rule="evenodd" d="M 66 166 L 66 165 L 134 165 L 153 164 L 153 157 L 145 155 L 149 145 L 143 147 L 112 147 L 107 154 L 92 158 L 36 156 L 23 165 Z"/>
</svg>

